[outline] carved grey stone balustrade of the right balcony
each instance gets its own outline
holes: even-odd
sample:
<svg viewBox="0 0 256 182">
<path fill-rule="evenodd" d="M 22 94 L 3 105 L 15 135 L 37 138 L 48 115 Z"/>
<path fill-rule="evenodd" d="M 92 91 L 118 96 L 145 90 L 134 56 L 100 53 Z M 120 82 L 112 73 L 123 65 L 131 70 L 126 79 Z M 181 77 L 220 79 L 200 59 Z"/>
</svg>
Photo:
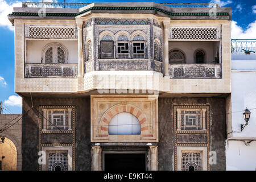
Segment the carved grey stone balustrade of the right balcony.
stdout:
<svg viewBox="0 0 256 182">
<path fill-rule="evenodd" d="M 170 78 L 221 78 L 221 64 L 169 64 Z"/>
</svg>

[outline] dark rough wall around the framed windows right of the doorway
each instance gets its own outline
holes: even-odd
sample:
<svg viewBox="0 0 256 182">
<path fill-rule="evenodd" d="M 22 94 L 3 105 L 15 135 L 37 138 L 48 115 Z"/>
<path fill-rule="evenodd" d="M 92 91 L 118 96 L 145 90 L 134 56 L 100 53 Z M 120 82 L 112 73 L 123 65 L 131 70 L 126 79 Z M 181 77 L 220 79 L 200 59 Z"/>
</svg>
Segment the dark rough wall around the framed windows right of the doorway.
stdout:
<svg viewBox="0 0 256 182">
<path fill-rule="evenodd" d="M 159 98 L 159 170 L 174 170 L 174 106 L 210 106 L 210 151 L 215 151 L 217 164 L 210 170 L 225 170 L 225 98 Z M 191 143 L 194 137 L 189 137 Z"/>
</svg>

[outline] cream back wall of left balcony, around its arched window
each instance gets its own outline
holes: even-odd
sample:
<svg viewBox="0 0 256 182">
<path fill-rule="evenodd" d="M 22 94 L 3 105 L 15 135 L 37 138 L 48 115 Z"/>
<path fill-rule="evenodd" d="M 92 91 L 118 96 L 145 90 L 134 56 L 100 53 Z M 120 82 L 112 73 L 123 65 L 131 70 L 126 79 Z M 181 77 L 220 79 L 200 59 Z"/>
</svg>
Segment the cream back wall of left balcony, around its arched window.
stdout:
<svg viewBox="0 0 256 182">
<path fill-rule="evenodd" d="M 78 63 L 77 40 L 27 40 L 26 60 L 27 63 L 41 63 L 42 50 L 49 43 L 63 44 L 69 53 L 69 63 Z"/>
</svg>

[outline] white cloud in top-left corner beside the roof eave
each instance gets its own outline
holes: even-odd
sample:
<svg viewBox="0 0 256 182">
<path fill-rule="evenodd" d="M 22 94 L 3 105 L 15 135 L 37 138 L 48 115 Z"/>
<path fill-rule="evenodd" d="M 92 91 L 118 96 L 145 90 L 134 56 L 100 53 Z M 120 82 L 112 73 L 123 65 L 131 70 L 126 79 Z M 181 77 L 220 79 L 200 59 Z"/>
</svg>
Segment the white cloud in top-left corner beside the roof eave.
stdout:
<svg viewBox="0 0 256 182">
<path fill-rule="evenodd" d="M 21 1 L 15 1 L 7 3 L 5 0 L 0 0 L 0 27 L 6 27 L 10 30 L 14 30 L 13 25 L 7 18 L 7 15 L 13 12 L 13 7 L 22 7 Z"/>
</svg>

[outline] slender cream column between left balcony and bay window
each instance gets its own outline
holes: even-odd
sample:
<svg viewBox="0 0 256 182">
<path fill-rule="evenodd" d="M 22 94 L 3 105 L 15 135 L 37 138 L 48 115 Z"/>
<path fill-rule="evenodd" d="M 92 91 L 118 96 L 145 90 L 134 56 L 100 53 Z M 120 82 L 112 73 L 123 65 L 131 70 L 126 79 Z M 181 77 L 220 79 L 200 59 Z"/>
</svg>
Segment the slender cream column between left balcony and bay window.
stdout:
<svg viewBox="0 0 256 182">
<path fill-rule="evenodd" d="M 77 77 L 84 76 L 84 61 L 82 60 L 82 20 L 76 22 L 77 24 L 77 43 L 78 43 L 78 75 Z"/>
</svg>

